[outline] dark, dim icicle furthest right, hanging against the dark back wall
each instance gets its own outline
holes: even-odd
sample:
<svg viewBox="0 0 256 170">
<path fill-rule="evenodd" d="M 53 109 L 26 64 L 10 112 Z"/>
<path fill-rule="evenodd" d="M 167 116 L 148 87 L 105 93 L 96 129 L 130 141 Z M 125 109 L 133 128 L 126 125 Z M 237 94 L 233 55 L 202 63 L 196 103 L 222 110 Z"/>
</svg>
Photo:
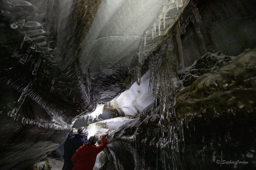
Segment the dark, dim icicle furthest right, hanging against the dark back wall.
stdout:
<svg viewBox="0 0 256 170">
<path fill-rule="evenodd" d="M 198 8 L 196 7 L 196 4 L 193 1 L 191 1 L 188 4 L 187 8 L 188 8 L 188 12 L 189 12 L 189 18 L 190 18 L 191 22 L 193 22 L 196 33 L 199 36 L 199 39 L 201 41 L 201 47 L 203 49 L 203 53 L 201 52 L 201 55 L 204 55 L 205 53 L 207 53 L 207 49 L 205 46 L 203 34 L 201 33 L 201 29 L 200 29 L 202 26 L 201 16 L 199 14 Z"/>
</svg>

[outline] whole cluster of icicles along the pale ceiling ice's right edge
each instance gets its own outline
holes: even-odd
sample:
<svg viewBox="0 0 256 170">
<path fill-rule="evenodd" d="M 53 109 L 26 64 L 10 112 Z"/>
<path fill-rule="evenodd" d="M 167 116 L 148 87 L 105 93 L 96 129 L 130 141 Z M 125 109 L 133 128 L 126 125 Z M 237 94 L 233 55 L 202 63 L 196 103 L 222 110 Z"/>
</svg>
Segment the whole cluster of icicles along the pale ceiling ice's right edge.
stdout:
<svg viewBox="0 0 256 170">
<path fill-rule="evenodd" d="M 162 14 L 158 17 L 158 35 L 167 34 L 168 30 L 173 26 L 174 31 L 171 33 L 171 35 L 167 36 L 167 43 L 161 45 L 159 53 L 152 54 L 152 51 L 154 48 L 150 47 L 147 50 L 146 46 L 146 34 L 144 35 L 144 46 L 140 47 L 138 56 L 139 56 L 139 64 L 136 68 L 136 76 L 137 76 L 137 84 L 140 85 L 141 81 L 141 67 L 143 65 L 143 62 L 147 56 L 149 56 L 150 59 L 150 84 L 148 88 L 149 94 L 151 93 L 153 89 L 153 95 L 155 99 L 159 99 L 161 111 L 165 111 L 165 109 L 168 109 L 171 107 L 174 103 L 174 96 L 178 92 L 177 90 L 180 88 L 178 84 L 178 78 L 177 78 L 177 68 L 178 63 L 176 63 L 178 60 L 181 62 L 179 63 L 181 66 L 181 69 L 184 69 L 184 58 L 183 58 L 183 52 L 182 52 L 182 42 L 180 34 L 186 33 L 186 24 L 188 24 L 188 21 L 190 19 L 191 22 L 194 23 L 195 30 L 198 34 L 198 36 L 201 39 L 202 45 L 205 47 L 203 35 L 200 31 L 201 26 L 201 16 L 199 14 L 198 8 L 196 7 L 194 2 L 189 2 L 189 4 L 186 7 L 186 14 L 185 18 L 183 18 L 183 15 L 181 13 L 179 14 L 179 17 L 173 20 L 169 20 L 171 23 L 166 23 L 166 14 L 171 9 L 177 7 L 177 9 L 180 7 L 181 12 L 182 9 L 184 9 L 184 4 L 182 3 L 182 0 L 175 0 L 175 4 L 172 4 L 170 6 L 164 6 L 162 9 Z M 163 19 L 163 28 L 165 31 L 161 32 L 161 18 Z M 175 23 L 175 21 L 177 21 Z M 168 28 L 166 28 L 166 24 L 168 24 Z M 154 26 L 152 27 L 152 39 L 154 39 L 154 35 L 156 33 L 156 24 L 154 23 Z M 176 37 L 176 38 L 175 38 Z M 174 53 L 174 43 L 173 40 L 176 40 L 177 44 L 177 50 Z M 155 48 L 156 49 L 156 48 Z M 150 51 L 151 50 L 151 51 Z M 206 49 L 204 49 L 205 53 L 207 52 Z M 150 55 L 149 54 L 152 54 Z M 154 83 L 153 83 L 154 80 Z"/>
</svg>

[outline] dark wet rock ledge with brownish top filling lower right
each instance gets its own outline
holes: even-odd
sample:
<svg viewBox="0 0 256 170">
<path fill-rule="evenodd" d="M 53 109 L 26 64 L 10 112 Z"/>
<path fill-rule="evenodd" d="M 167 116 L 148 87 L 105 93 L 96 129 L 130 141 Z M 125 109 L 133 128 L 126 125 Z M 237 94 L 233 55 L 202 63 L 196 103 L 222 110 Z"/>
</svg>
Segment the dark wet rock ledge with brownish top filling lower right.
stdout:
<svg viewBox="0 0 256 170">
<path fill-rule="evenodd" d="M 169 112 L 149 105 L 110 137 L 105 169 L 255 169 L 255 68 L 247 50 L 179 92 Z"/>
</svg>

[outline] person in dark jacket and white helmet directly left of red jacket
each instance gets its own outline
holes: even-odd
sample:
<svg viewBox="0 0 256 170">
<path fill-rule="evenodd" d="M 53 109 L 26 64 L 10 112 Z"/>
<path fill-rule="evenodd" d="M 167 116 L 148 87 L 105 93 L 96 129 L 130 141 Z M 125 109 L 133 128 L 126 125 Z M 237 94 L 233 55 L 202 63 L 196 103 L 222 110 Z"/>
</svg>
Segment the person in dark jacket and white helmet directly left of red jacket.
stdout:
<svg viewBox="0 0 256 170">
<path fill-rule="evenodd" d="M 85 142 L 83 134 L 85 133 L 85 128 L 81 127 L 78 130 L 78 134 L 75 134 L 75 136 L 67 141 L 67 145 L 64 147 L 65 155 L 63 155 L 63 158 L 66 162 L 65 169 L 64 166 L 62 170 L 72 170 L 74 167 L 72 163 L 72 156 L 74 155 L 75 151 L 83 145 Z M 65 157 L 64 157 L 65 156 Z"/>
</svg>

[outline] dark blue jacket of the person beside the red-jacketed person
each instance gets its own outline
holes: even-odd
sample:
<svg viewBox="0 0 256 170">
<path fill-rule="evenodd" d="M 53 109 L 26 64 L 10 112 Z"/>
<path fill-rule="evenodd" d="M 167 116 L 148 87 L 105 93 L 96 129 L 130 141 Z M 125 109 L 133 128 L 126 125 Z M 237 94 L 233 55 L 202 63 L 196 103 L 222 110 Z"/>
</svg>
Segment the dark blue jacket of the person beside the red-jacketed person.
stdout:
<svg viewBox="0 0 256 170">
<path fill-rule="evenodd" d="M 79 134 L 75 134 L 75 136 L 67 141 L 67 145 L 64 146 L 64 159 L 72 159 L 75 151 L 81 147 L 84 143 L 84 137 Z"/>
</svg>

